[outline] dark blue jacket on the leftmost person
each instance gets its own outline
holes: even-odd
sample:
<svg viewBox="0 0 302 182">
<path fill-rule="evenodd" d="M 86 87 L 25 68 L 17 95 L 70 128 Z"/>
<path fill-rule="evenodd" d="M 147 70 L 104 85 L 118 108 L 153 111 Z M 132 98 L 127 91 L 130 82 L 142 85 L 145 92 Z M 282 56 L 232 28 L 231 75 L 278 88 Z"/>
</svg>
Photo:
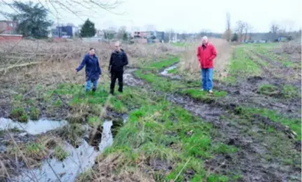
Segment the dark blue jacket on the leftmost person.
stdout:
<svg viewBox="0 0 302 182">
<path fill-rule="evenodd" d="M 83 69 L 85 65 L 86 81 L 98 80 L 100 74 L 102 74 L 102 71 L 100 70 L 100 63 L 98 63 L 98 56 L 90 56 L 89 53 L 87 53 L 84 56 L 81 65 L 77 67 L 77 72 L 80 72 L 80 70 Z"/>
</svg>

